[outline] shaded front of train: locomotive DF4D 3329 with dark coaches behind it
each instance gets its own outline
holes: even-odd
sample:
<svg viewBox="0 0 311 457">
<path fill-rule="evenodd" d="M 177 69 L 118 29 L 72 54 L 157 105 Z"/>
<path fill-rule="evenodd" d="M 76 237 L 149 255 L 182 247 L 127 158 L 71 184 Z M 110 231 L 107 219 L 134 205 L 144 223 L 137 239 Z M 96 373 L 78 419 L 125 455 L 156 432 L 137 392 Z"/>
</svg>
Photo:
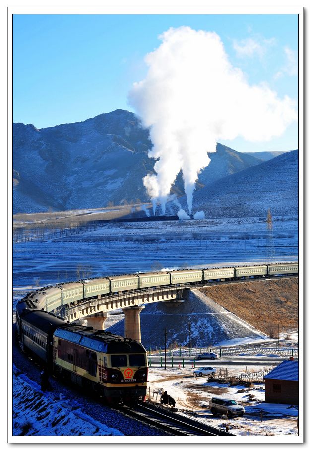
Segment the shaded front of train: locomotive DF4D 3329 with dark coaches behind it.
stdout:
<svg viewBox="0 0 311 457">
<path fill-rule="evenodd" d="M 16 328 L 22 350 L 55 376 L 97 393 L 107 403 L 145 400 L 148 365 L 141 343 L 68 324 L 29 299 L 16 306 Z"/>
</svg>

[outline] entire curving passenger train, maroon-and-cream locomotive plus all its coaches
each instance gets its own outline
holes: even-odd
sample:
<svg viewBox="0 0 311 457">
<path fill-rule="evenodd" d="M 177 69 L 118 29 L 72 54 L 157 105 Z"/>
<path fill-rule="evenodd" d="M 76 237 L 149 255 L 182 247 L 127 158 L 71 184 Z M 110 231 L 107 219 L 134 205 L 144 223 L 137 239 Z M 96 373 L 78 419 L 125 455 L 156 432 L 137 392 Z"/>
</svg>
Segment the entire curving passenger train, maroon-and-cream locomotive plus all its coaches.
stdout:
<svg viewBox="0 0 311 457">
<path fill-rule="evenodd" d="M 110 403 L 144 400 L 147 354 L 143 345 L 103 330 L 69 324 L 61 309 L 114 294 L 163 286 L 189 286 L 249 277 L 297 275 L 298 263 L 137 273 L 44 287 L 16 305 L 20 346 L 50 372 L 91 389 Z"/>
</svg>

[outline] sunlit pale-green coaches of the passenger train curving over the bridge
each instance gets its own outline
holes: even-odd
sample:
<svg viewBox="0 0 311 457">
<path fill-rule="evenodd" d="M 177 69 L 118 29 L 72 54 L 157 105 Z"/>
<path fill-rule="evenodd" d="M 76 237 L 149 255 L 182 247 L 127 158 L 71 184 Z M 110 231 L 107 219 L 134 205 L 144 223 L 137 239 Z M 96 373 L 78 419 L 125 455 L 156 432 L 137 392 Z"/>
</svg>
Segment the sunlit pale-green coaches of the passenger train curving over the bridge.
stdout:
<svg viewBox="0 0 311 457">
<path fill-rule="evenodd" d="M 39 309 L 59 314 L 61 309 L 85 300 L 107 295 L 161 286 L 232 281 L 249 277 L 271 277 L 298 274 L 298 262 L 220 267 L 195 270 L 173 270 L 133 275 L 107 276 L 60 283 L 32 292 L 30 298 Z"/>
</svg>

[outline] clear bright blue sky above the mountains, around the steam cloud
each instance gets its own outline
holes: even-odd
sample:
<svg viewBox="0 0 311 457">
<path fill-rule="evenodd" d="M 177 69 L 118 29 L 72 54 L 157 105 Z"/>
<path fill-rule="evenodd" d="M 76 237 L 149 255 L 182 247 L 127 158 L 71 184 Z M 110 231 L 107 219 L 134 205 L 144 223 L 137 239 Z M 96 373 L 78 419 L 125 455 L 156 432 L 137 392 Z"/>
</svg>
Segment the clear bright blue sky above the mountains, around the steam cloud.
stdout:
<svg viewBox="0 0 311 457">
<path fill-rule="evenodd" d="M 37 128 L 133 111 L 127 94 L 146 75 L 144 56 L 169 27 L 218 33 L 250 84 L 298 97 L 298 16 L 294 14 L 31 15 L 13 18 L 13 120 Z M 297 124 L 282 137 L 226 141 L 241 152 L 291 150 Z"/>
</svg>

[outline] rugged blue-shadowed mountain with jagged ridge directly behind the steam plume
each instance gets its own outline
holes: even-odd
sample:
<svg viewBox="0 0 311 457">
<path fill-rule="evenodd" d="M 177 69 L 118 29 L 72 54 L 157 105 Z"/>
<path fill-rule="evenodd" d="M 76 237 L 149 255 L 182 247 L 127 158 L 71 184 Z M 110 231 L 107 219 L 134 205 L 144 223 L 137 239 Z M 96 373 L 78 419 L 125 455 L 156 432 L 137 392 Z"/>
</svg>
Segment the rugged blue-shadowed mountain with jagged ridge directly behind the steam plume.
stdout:
<svg viewBox="0 0 311 457">
<path fill-rule="evenodd" d="M 129 111 L 116 110 L 73 124 L 38 130 L 13 125 L 14 213 L 103 207 L 149 201 L 142 178 L 153 172 L 149 131 Z M 197 188 L 261 163 L 217 145 Z M 184 194 L 181 173 L 172 186 Z"/>
</svg>

